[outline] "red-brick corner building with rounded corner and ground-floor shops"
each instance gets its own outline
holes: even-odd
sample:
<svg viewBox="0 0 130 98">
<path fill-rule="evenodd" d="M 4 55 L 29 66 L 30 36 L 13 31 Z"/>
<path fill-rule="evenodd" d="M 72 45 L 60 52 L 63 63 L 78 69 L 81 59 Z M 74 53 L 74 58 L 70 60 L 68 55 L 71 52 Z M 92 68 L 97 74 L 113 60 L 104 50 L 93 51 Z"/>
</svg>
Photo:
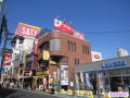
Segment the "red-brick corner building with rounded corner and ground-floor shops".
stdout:
<svg viewBox="0 0 130 98">
<path fill-rule="evenodd" d="M 91 62 L 90 42 L 62 32 L 40 37 L 38 47 L 40 70 L 46 71 L 47 82 L 53 79 L 60 88 L 74 88 L 75 66 Z"/>
</svg>

